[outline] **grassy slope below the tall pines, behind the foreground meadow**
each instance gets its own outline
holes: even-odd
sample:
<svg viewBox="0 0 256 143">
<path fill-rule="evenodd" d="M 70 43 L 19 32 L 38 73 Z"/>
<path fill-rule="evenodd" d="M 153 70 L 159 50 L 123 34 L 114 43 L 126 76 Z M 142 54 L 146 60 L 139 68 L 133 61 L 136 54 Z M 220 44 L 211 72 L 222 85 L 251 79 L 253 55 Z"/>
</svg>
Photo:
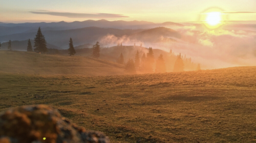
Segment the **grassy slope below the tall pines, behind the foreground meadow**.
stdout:
<svg viewBox="0 0 256 143">
<path fill-rule="evenodd" d="M 124 66 L 81 56 L 0 51 L 0 72 L 50 75 L 118 75 Z"/>
</svg>

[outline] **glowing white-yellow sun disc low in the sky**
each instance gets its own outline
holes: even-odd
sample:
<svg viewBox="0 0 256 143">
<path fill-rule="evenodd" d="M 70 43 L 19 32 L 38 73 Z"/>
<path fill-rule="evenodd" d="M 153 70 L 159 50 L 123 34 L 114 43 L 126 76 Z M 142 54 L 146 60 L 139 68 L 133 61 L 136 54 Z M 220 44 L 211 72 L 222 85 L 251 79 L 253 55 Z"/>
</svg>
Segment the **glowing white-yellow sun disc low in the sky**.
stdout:
<svg viewBox="0 0 256 143">
<path fill-rule="evenodd" d="M 209 12 L 206 15 L 206 22 L 211 26 L 216 26 L 221 23 L 221 13 L 220 12 Z"/>
</svg>

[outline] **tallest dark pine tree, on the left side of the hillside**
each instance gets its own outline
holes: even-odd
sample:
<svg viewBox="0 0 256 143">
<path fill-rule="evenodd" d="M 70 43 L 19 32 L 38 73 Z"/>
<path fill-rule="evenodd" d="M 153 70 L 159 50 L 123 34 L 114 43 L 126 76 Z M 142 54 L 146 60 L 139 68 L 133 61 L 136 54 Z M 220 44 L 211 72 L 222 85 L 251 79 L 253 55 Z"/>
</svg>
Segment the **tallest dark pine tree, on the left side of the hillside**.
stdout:
<svg viewBox="0 0 256 143">
<path fill-rule="evenodd" d="M 34 39 L 34 51 L 37 51 L 37 52 L 47 52 L 47 43 L 46 43 L 46 40 L 45 40 L 45 36 L 42 35 L 42 32 L 41 32 L 41 28 L 39 27 L 38 28 L 38 31 L 37 31 L 37 34 L 35 36 L 35 39 Z"/>
</svg>

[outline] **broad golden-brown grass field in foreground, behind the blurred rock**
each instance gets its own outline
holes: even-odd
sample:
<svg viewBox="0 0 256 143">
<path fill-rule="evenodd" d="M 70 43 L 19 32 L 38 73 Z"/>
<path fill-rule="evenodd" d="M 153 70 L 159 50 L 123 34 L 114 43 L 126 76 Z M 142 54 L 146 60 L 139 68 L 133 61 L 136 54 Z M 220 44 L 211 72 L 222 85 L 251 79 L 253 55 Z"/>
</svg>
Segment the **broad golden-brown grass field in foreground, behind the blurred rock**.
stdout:
<svg viewBox="0 0 256 143">
<path fill-rule="evenodd" d="M 111 142 L 256 142 L 256 67 L 82 76 L 0 73 L 0 110 L 47 104 Z"/>
</svg>

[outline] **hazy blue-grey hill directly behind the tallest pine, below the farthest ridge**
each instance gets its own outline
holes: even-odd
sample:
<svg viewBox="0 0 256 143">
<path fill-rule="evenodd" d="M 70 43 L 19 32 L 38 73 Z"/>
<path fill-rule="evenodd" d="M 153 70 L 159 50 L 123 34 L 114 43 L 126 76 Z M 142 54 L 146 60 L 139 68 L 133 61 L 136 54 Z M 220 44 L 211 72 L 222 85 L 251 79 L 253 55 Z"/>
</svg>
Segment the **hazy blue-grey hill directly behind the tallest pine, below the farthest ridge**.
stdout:
<svg viewBox="0 0 256 143">
<path fill-rule="evenodd" d="M 42 32 L 42 34 L 45 36 L 47 42 L 54 43 L 54 45 L 60 48 L 68 48 L 70 37 L 73 39 L 74 46 L 79 46 L 87 43 L 95 44 L 97 40 L 108 34 L 120 37 L 141 31 L 143 30 L 119 30 L 115 28 L 86 27 L 75 30 L 45 31 Z M 23 41 L 34 39 L 35 35 L 36 32 L 0 36 L 0 41 Z"/>
</svg>

